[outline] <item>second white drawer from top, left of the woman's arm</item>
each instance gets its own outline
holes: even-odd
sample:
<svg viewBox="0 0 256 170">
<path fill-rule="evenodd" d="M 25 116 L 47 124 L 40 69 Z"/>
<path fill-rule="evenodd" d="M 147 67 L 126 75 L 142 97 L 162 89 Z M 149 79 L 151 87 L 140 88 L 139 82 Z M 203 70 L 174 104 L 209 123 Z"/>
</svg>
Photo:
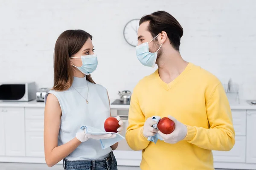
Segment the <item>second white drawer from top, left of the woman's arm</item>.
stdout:
<svg viewBox="0 0 256 170">
<path fill-rule="evenodd" d="M 44 131 L 44 119 L 26 119 L 27 132 L 41 132 Z"/>
</svg>

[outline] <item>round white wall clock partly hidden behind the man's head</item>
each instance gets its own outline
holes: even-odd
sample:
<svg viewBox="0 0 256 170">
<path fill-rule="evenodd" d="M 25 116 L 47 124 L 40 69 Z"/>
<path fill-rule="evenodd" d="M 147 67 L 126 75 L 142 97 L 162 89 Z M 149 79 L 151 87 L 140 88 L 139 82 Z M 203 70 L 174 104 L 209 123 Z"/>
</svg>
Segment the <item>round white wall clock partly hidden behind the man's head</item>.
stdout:
<svg viewBox="0 0 256 170">
<path fill-rule="evenodd" d="M 136 47 L 138 45 L 137 35 L 139 28 L 140 19 L 130 20 L 124 28 L 123 34 L 125 41 L 131 45 Z"/>
</svg>

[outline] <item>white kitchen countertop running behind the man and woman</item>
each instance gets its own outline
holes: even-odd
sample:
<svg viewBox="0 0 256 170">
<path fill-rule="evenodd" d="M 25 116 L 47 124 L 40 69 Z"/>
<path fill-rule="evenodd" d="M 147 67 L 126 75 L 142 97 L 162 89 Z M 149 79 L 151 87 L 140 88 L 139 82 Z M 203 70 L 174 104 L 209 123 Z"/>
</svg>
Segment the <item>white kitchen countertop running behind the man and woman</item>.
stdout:
<svg viewBox="0 0 256 170">
<path fill-rule="evenodd" d="M 0 107 L 29 107 L 44 108 L 44 102 L 0 102 Z M 234 110 L 256 110 L 256 105 L 249 105 L 243 101 L 240 104 L 230 104 L 230 108 Z M 129 105 L 111 105 L 111 109 L 129 109 Z"/>
</svg>

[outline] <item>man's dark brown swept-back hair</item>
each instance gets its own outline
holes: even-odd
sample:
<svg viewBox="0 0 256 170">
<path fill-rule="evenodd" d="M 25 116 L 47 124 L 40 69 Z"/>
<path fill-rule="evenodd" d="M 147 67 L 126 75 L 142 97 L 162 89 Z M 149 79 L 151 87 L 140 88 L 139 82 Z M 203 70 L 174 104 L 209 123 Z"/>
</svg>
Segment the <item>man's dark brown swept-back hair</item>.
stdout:
<svg viewBox="0 0 256 170">
<path fill-rule="evenodd" d="M 140 19 L 140 24 L 149 21 L 148 31 L 152 37 L 165 31 L 173 48 L 180 51 L 180 38 L 183 35 L 183 28 L 180 23 L 166 11 L 156 11 L 145 15 Z M 156 40 L 156 39 L 155 39 Z"/>
</svg>

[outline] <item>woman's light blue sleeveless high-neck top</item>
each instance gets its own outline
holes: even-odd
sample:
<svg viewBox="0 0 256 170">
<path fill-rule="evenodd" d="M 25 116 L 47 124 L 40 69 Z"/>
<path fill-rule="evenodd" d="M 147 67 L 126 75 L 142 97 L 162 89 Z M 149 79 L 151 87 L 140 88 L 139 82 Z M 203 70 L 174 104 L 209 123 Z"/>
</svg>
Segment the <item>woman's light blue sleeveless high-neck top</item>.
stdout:
<svg viewBox="0 0 256 170">
<path fill-rule="evenodd" d="M 87 83 L 89 93 L 87 98 Z M 80 94 L 86 100 L 80 95 Z M 83 125 L 104 130 L 104 122 L 110 116 L 108 93 L 102 85 L 90 83 L 86 78 L 74 77 L 72 86 L 67 91 L 49 91 L 54 94 L 61 106 L 61 126 L 58 134 L 58 145 L 65 144 L 76 137 L 76 132 Z M 99 140 L 89 139 L 76 148 L 67 160 L 101 160 L 111 152 L 111 147 L 101 148 Z"/>
</svg>

